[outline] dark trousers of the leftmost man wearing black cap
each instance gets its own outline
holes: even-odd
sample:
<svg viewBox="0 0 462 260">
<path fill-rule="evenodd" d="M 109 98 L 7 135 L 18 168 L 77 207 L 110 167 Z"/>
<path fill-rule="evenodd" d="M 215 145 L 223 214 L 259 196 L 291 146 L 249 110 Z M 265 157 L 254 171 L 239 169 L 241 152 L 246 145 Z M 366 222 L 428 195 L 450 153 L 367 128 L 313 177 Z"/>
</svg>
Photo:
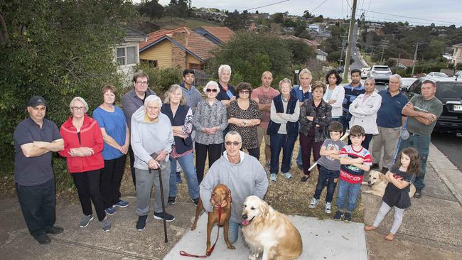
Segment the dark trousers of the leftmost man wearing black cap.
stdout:
<svg viewBox="0 0 462 260">
<path fill-rule="evenodd" d="M 15 183 L 19 206 L 23 212 L 29 233 L 33 237 L 45 233 L 56 222 L 55 179 L 34 186 Z"/>
</svg>

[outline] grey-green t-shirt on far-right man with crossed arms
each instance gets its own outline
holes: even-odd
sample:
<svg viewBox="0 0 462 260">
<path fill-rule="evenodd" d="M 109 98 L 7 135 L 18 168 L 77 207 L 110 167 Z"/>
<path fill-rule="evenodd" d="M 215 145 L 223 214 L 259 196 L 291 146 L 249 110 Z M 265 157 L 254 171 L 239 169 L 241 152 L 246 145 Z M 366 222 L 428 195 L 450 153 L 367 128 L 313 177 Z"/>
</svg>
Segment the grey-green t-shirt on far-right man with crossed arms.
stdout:
<svg viewBox="0 0 462 260">
<path fill-rule="evenodd" d="M 416 94 L 411 98 L 411 100 L 409 100 L 409 103 L 414 104 L 414 110 L 434 114 L 436 117 L 439 117 L 443 112 L 443 103 L 441 103 L 441 101 L 439 101 L 436 97 L 433 97 L 430 100 L 425 100 L 420 94 Z M 419 134 L 420 136 L 431 136 L 431 132 L 433 131 L 435 124 L 436 120 L 427 126 L 426 124 L 422 124 L 414 119 L 414 117 L 409 117 L 407 121 L 407 131 Z"/>
</svg>

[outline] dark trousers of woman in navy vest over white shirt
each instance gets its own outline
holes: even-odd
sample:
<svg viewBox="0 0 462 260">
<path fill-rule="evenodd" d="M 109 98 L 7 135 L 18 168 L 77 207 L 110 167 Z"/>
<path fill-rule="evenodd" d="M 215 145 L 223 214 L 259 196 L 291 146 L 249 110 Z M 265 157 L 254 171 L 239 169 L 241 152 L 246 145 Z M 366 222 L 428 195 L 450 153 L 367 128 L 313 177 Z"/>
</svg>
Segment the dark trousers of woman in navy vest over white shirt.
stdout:
<svg viewBox="0 0 462 260">
<path fill-rule="evenodd" d="M 282 149 L 281 172 L 288 173 L 291 169 L 291 155 L 294 151 L 294 144 L 297 136 L 287 136 L 286 134 L 272 134 L 269 136 L 269 146 L 271 148 L 271 166 L 269 173 L 279 172 L 279 154 Z"/>
</svg>

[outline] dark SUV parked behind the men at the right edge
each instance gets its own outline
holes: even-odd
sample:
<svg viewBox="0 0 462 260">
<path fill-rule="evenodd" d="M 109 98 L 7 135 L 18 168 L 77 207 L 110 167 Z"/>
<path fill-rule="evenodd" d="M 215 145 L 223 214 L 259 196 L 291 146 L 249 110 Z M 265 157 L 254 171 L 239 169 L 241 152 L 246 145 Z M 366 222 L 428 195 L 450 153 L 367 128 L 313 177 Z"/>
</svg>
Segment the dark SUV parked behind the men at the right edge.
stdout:
<svg viewBox="0 0 462 260">
<path fill-rule="evenodd" d="M 450 77 L 421 77 L 409 89 L 402 88 L 402 92 L 411 99 L 414 94 L 420 94 L 422 82 L 431 80 L 435 82 L 435 96 L 443 103 L 443 113 L 436 121 L 434 131 L 461 132 L 462 131 L 462 81 Z"/>
</svg>

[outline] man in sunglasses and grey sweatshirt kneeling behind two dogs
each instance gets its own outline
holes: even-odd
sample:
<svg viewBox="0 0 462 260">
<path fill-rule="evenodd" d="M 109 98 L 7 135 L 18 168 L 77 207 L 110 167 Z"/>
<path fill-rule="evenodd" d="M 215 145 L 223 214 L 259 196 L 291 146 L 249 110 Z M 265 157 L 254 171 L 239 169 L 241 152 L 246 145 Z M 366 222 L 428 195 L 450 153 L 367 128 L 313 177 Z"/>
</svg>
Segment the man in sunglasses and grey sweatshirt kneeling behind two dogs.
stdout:
<svg viewBox="0 0 462 260">
<path fill-rule="evenodd" d="M 226 151 L 213 163 L 200 183 L 200 199 L 208 212 L 213 211 L 210 197 L 215 186 L 221 183 L 230 189 L 232 207 L 228 238 L 231 244 L 236 242 L 238 237 L 245 198 L 256 195 L 263 199 L 268 190 L 267 173 L 262 164 L 254 156 L 240 151 L 241 146 L 242 137 L 237 131 L 227 133 Z"/>
</svg>

